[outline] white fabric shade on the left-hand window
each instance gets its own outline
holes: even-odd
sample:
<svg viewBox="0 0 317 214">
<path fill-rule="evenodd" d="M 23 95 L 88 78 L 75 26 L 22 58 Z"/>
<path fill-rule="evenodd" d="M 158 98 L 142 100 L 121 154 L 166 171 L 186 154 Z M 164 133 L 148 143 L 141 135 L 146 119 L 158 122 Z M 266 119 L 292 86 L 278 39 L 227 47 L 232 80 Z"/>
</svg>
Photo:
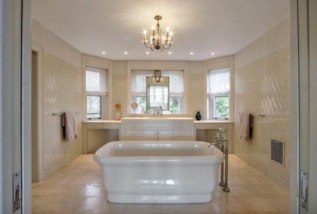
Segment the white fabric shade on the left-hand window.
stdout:
<svg viewBox="0 0 317 214">
<path fill-rule="evenodd" d="M 89 95 L 106 95 L 107 92 L 107 70 L 86 66 L 86 93 Z"/>
</svg>

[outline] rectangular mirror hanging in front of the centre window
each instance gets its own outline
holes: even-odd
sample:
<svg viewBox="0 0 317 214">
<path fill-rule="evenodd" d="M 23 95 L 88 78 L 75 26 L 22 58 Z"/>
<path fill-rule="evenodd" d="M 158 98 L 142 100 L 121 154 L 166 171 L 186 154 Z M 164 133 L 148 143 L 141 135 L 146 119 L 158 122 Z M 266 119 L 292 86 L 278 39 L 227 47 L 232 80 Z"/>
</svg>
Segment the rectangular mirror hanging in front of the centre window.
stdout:
<svg viewBox="0 0 317 214">
<path fill-rule="evenodd" d="M 169 110 L 169 77 L 147 77 L 147 110 Z"/>
</svg>

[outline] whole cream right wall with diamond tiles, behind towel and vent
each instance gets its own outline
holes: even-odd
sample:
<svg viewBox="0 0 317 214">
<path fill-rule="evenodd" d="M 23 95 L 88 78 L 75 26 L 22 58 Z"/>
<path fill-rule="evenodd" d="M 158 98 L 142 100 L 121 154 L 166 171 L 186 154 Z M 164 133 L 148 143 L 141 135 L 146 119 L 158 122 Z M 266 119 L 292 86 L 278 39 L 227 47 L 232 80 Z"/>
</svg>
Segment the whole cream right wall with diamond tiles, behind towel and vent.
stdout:
<svg viewBox="0 0 317 214">
<path fill-rule="evenodd" d="M 234 112 L 254 117 L 250 141 L 239 134 L 234 116 L 234 153 L 278 182 L 289 184 L 290 59 L 289 20 L 285 20 L 235 54 Z M 285 141 L 285 167 L 270 161 L 270 140 Z"/>
</svg>

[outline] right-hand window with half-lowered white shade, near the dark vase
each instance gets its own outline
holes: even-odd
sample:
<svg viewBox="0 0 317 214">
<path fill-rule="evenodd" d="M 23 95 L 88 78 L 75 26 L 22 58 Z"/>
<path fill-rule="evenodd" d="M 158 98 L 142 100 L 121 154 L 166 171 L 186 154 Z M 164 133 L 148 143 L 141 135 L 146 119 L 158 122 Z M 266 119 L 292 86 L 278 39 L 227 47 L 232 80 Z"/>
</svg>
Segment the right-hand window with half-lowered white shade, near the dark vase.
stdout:
<svg viewBox="0 0 317 214">
<path fill-rule="evenodd" d="M 210 69 L 207 73 L 210 118 L 230 117 L 230 67 Z"/>
</svg>

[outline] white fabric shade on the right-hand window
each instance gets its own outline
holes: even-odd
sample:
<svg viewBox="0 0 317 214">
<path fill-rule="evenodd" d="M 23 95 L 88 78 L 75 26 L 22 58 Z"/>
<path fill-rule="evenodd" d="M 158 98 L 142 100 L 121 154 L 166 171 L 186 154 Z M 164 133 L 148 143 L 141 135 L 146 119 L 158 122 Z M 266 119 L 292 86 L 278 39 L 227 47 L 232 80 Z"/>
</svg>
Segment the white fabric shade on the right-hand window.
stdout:
<svg viewBox="0 0 317 214">
<path fill-rule="evenodd" d="M 208 86 L 209 95 L 229 95 L 230 93 L 230 67 L 223 67 L 208 70 Z"/>
</svg>

